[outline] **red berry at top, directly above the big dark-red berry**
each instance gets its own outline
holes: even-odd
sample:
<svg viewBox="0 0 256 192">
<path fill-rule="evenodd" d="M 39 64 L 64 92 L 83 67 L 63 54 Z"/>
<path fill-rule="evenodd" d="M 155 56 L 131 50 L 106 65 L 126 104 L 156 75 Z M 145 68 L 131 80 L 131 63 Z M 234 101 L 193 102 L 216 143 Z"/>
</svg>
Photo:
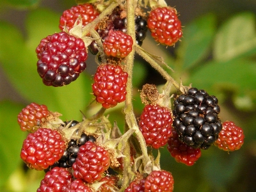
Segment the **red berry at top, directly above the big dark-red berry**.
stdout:
<svg viewBox="0 0 256 192">
<path fill-rule="evenodd" d="M 98 17 L 99 12 L 89 3 L 72 6 L 69 10 L 65 10 L 60 17 L 59 28 L 61 31 L 65 26 L 68 31 L 72 29 L 79 16 L 81 16 L 84 27 Z M 77 21 L 77 24 L 79 24 L 79 20 Z"/>
</svg>

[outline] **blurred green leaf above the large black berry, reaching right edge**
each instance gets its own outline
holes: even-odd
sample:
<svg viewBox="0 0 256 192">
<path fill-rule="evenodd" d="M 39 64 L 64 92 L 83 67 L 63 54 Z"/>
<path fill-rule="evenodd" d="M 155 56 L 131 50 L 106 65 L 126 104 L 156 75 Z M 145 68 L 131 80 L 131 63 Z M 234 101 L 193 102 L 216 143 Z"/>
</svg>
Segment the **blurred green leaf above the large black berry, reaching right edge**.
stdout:
<svg viewBox="0 0 256 192">
<path fill-rule="evenodd" d="M 255 65 L 255 61 L 245 59 L 212 61 L 191 74 L 189 83 L 200 89 L 211 90 L 214 95 L 221 90 L 229 90 L 235 95 L 247 95 L 255 100 Z"/>
</svg>

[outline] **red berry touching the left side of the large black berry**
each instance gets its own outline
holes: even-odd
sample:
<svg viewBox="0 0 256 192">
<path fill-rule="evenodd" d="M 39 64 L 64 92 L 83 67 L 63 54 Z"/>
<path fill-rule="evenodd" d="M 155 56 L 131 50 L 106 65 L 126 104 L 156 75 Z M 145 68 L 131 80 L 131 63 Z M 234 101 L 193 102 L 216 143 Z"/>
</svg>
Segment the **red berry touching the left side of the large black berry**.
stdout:
<svg viewBox="0 0 256 192">
<path fill-rule="evenodd" d="M 148 104 L 140 116 L 140 131 L 147 145 L 163 147 L 172 135 L 172 113 L 168 108 Z"/>
</svg>

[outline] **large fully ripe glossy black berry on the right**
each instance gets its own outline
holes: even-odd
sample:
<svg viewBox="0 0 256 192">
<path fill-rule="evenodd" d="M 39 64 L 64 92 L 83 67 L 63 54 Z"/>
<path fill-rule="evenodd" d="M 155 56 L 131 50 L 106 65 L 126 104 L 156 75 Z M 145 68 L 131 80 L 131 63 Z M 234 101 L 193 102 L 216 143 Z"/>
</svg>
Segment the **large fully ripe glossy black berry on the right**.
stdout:
<svg viewBox="0 0 256 192">
<path fill-rule="evenodd" d="M 182 143 L 193 148 L 209 148 L 222 129 L 220 106 L 214 95 L 190 88 L 174 101 L 173 127 Z"/>
</svg>

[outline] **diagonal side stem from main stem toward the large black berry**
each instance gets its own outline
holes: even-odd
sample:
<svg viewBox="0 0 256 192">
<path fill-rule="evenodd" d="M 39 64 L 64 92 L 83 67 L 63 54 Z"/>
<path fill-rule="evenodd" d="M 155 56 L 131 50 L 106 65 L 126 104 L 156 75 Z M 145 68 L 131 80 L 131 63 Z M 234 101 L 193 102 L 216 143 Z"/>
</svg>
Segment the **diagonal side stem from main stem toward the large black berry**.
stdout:
<svg viewBox="0 0 256 192">
<path fill-rule="evenodd" d="M 168 74 L 168 72 L 166 72 L 166 70 L 164 70 L 158 63 L 156 63 L 156 61 L 154 61 L 141 47 L 139 47 L 138 45 L 134 45 L 134 48 L 136 53 L 138 53 L 145 61 L 147 61 L 153 68 L 155 68 L 161 74 L 161 76 L 164 77 L 164 79 L 172 82 L 173 86 L 175 86 L 175 88 L 179 90 L 179 83 L 177 83 L 177 81 L 175 81 Z"/>
</svg>

